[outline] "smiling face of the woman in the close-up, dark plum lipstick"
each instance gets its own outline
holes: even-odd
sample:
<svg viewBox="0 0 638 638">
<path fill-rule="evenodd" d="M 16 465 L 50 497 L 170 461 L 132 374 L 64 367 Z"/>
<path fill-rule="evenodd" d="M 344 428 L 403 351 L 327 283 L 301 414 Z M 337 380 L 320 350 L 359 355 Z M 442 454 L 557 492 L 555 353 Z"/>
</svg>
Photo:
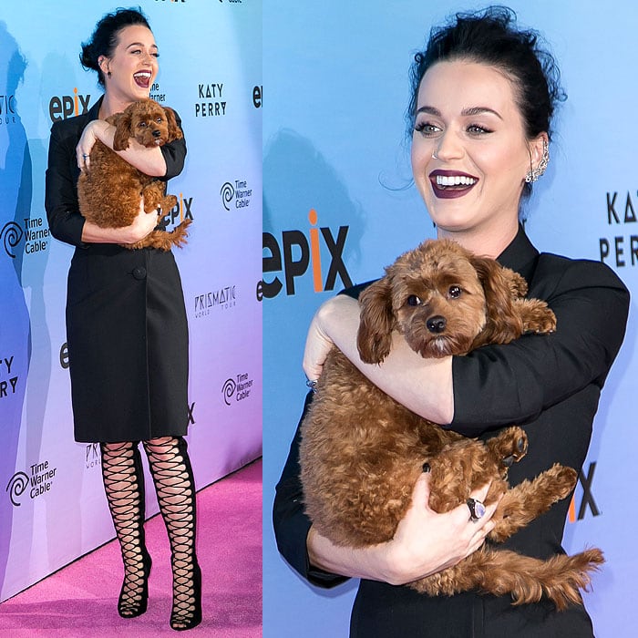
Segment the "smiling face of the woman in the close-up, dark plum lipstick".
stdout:
<svg viewBox="0 0 638 638">
<path fill-rule="evenodd" d="M 422 78 L 412 171 L 439 235 L 518 227 L 525 175 L 547 137 L 526 139 L 514 91 L 477 62 L 438 62 Z"/>
</svg>

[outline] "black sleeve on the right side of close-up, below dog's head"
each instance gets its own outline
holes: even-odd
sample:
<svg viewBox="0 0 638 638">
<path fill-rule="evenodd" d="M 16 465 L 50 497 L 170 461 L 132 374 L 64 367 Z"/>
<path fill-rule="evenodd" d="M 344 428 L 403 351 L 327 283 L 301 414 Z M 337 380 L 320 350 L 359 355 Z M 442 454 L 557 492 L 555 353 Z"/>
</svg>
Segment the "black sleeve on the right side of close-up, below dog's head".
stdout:
<svg viewBox="0 0 638 638">
<path fill-rule="evenodd" d="M 553 257 L 553 256 L 552 256 Z M 594 384 L 602 388 L 618 354 L 629 312 L 629 293 L 600 262 L 546 260 L 533 296 L 556 314 L 554 334 L 524 335 L 453 359 L 451 428 L 476 437 L 492 427 L 524 424 Z M 564 264 L 567 264 L 566 266 Z"/>
</svg>

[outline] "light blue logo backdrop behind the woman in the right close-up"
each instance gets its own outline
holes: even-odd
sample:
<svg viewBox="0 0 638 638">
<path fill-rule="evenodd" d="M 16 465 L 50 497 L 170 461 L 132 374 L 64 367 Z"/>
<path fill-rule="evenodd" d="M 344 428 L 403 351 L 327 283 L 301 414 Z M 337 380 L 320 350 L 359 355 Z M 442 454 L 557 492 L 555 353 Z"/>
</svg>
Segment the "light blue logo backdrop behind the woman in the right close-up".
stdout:
<svg viewBox="0 0 638 638">
<path fill-rule="evenodd" d="M 601 260 L 638 296 L 638 8 L 512 0 L 551 43 L 568 94 L 527 230 L 542 251 Z M 407 69 L 430 27 L 485 3 L 439 0 L 263 5 L 264 636 L 347 635 L 355 582 L 319 591 L 278 555 L 271 510 L 306 387 L 306 328 L 324 299 L 380 276 L 434 236 L 410 183 Z M 612 8 L 612 11 L 610 9 Z M 604 43 L 604 44 L 602 44 Z M 599 546 L 607 563 L 586 594 L 596 635 L 628 636 L 638 570 L 635 301 L 602 393 L 565 549 Z"/>
</svg>

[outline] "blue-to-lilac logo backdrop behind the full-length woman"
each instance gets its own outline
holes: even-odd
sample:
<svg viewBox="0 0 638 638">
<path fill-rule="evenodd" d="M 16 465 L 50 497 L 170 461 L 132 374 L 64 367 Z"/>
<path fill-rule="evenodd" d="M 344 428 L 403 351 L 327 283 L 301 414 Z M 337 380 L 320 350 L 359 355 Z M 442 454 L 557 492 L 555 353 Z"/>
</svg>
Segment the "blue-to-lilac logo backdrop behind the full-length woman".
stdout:
<svg viewBox="0 0 638 638">
<path fill-rule="evenodd" d="M 101 95 L 79 64 L 80 44 L 102 15 L 129 6 L 10 4 L 0 15 L 0 601 L 114 537 L 99 448 L 73 441 L 65 334 L 73 249 L 49 234 L 44 189 L 52 122 Z M 175 254 L 200 489 L 262 455 L 262 6 L 135 5 L 160 47 L 151 97 L 180 114 L 189 149 L 169 184 L 179 202 L 168 221 L 192 220 Z M 147 496 L 147 513 L 157 512 L 154 490 Z"/>
</svg>

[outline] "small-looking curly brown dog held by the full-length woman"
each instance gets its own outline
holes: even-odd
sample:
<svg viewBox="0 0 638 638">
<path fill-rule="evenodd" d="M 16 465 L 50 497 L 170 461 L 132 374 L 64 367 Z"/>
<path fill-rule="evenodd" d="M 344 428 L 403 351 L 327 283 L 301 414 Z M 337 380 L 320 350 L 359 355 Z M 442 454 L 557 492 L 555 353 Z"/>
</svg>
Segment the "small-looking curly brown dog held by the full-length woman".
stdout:
<svg viewBox="0 0 638 638">
<path fill-rule="evenodd" d="M 134 102 L 121 113 L 107 118 L 116 127 L 113 150 L 96 141 L 89 157 L 89 170 L 77 180 L 77 199 L 82 215 L 100 228 L 129 226 L 139 212 L 139 198 L 144 197 L 144 211 L 166 214 L 177 204 L 175 195 L 165 195 L 166 184 L 149 177 L 123 160 L 116 150 L 129 148 L 130 139 L 151 148 L 183 138 L 171 108 L 161 107 L 152 99 Z M 126 248 L 159 248 L 170 251 L 173 245 L 186 242 L 190 220 L 184 220 L 172 232 L 155 230 Z"/>
</svg>

